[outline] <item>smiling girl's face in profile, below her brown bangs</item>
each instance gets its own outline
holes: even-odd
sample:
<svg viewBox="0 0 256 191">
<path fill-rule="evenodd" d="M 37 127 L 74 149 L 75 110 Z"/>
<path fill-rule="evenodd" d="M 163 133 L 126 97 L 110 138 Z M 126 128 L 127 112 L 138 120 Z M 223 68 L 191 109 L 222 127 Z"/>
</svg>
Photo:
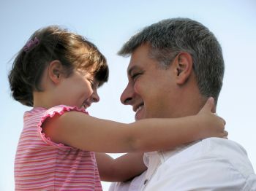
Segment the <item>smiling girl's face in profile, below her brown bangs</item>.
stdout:
<svg viewBox="0 0 256 191">
<path fill-rule="evenodd" d="M 69 77 L 63 77 L 59 84 L 61 101 L 67 106 L 88 108 L 93 102 L 99 101 L 97 87 L 99 82 L 94 79 L 91 72 L 76 70 Z"/>
</svg>

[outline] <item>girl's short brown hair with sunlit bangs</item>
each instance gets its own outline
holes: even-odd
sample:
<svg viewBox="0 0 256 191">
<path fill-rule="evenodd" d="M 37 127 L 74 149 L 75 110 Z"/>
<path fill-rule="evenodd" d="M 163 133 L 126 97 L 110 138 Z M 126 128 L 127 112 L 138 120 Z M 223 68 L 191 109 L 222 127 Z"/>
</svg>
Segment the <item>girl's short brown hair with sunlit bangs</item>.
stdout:
<svg viewBox="0 0 256 191">
<path fill-rule="evenodd" d="M 108 81 L 107 61 L 83 36 L 59 26 L 35 31 L 18 52 L 9 74 L 12 96 L 26 106 L 34 105 L 34 92 L 42 92 L 42 76 L 50 63 L 59 61 L 62 77 L 76 71 L 90 73 L 99 86 Z"/>
</svg>

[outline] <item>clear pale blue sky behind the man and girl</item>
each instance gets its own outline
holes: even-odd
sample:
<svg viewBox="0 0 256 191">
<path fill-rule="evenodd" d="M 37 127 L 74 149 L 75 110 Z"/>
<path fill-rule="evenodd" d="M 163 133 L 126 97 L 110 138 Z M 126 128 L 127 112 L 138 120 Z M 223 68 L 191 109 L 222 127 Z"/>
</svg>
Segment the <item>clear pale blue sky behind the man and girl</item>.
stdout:
<svg viewBox="0 0 256 191">
<path fill-rule="evenodd" d="M 133 122 L 132 108 L 119 101 L 127 84 L 129 58 L 121 58 L 116 52 L 140 28 L 169 17 L 192 18 L 217 36 L 225 58 L 225 79 L 217 113 L 227 121 L 229 139 L 246 149 L 256 168 L 256 1 L 1 0 L 0 190 L 14 190 L 15 149 L 23 128 L 23 112 L 30 109 L 12 100 L 7 74 L 10 60 L 29 36 L 38 28 L 58 24 L 96 44 L 108 59 L 110 79 L 99 89 L 101 101 L 93 104 L 89 113 Z M 108 190 L 109 183 L 102 184 Z"/>
</svg>

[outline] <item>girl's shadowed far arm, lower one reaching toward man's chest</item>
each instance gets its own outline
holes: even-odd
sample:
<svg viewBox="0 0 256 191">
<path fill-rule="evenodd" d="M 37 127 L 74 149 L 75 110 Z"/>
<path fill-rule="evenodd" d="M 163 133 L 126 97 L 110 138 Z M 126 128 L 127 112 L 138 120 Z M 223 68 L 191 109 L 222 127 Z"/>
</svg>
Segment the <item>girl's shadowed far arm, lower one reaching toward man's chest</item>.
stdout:
<svg viewBox="0 0 256 191">
<path fill-rule="evenodd" d="M 127 153 L 116 159 L 105 153 L 96 152 L 99 176 L 105 182 L 124 182 L 146 171 L 143 153 Z"/>
</svg>

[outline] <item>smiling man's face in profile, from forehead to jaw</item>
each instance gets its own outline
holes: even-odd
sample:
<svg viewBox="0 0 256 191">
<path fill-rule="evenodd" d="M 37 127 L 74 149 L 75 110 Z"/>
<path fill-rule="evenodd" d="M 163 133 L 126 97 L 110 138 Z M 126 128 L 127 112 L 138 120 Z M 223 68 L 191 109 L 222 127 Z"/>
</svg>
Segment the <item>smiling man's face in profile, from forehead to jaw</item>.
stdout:
<svg viewBox="0 0 256 191">
<path fill-rule="evenodd" d="M 128 85 L 121 95 L 121 102 L 131 105 L 135 120 L 151 117 L 176 117 L 178 106 L 177 85 L 173 66 L 168 69 L 148 58 L 148 45 L 132 52 L 127 69 Z"/>
</svg>

